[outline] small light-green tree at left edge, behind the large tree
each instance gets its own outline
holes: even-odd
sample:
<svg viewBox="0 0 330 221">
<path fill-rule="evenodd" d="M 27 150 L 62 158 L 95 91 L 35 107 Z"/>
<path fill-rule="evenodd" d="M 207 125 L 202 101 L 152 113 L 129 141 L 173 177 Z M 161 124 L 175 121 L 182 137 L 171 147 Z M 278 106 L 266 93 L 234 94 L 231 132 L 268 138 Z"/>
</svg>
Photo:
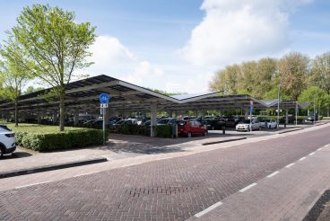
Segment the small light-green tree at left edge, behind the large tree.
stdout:
<svg viewBox="0 0 330 221">
<path fill-rule="evenodd" d="M 29 82 L 30 75 L 15 65 L 12 60 L 4 60 L 0 62 L 0 75 L 2 75 L 2 88 L 0 92 L 2 97 L 13 102 L 15 113 L 15 127 L 18 126 L 18 98 L 22 94 L 22 88 Z"/>
</svg>

